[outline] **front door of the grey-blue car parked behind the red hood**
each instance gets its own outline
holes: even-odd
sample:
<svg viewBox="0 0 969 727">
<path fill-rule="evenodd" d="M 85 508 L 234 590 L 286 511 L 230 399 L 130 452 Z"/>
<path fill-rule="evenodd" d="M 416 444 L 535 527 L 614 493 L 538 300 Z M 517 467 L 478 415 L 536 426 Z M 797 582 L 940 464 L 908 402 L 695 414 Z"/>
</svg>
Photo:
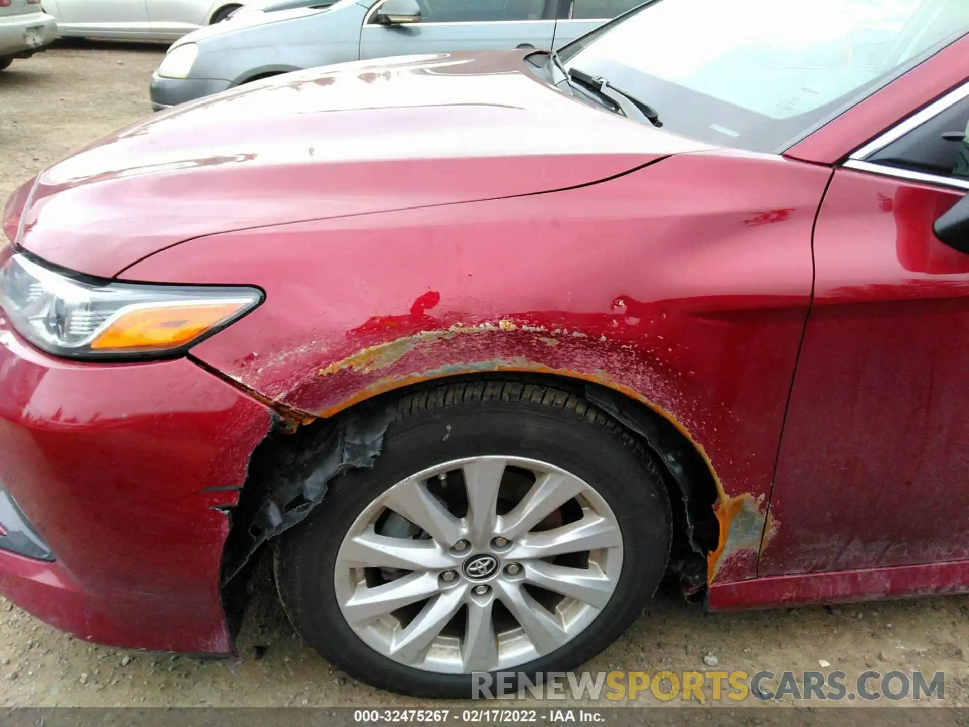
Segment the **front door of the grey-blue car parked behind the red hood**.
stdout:
<svg viewBox="0 0 969 727">
<path fill-rule="evenodd" d="M 360 58 L 449 50 L 551 49 L 556 0 L 419 0 L 421 22 L 383 25 L 370 9 Z"/>
</svg>

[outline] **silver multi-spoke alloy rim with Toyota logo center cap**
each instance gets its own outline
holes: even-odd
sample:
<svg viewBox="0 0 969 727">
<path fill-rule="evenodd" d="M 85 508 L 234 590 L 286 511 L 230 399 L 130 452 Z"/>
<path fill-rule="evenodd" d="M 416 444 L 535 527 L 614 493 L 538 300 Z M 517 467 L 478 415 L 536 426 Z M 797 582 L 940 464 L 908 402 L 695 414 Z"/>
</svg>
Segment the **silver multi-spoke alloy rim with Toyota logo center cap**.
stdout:
<svg viewBox="0 0 969 727">
<path fill-rule="evenodd" d="M 451 491 L 456 470 L 463 518 L 443 502 L 460 499 Z M 508 510 L 498 499 L 506 473 L 510 495 L 519 484 L 527 492 L 499 515 Z M 441 499 L 432 494 L 438 482 Z M 580 567 L 548 562 L 570 553 L 581 553 Z M 623 554 L 618 520 L 599 492 L 554 464 L 499 452 L 436 464 L 376 494 L 343 536 L 333 586 L 345 623 L 398 664 L 451 675 L 514 670 L 601 617 Z M 452 623 L 462 610 L 467 618 Z"/>
</svg>

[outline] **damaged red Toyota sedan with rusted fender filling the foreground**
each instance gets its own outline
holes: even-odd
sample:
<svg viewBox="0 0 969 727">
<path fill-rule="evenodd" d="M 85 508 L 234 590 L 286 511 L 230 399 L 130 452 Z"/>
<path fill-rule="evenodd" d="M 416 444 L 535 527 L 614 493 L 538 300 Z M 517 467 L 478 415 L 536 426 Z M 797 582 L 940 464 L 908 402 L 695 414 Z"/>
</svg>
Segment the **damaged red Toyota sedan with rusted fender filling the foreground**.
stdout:
<svg viewBox="0 0 969 727">
<path fill-rule="evenodd" d="M 969 588 L 969 4 L 661 0 L 154 115 L 0 247 L 0 593 L 467 696 L 711 609 Z"/>
</svg>

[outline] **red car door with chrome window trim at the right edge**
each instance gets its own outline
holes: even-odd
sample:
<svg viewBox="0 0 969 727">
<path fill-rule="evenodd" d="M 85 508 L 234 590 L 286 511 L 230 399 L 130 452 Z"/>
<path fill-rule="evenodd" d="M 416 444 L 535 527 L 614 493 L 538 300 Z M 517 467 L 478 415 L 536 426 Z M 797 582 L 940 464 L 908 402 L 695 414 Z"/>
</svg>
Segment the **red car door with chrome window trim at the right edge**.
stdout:
<svg viewBox="0 0 969 727">
<path fill-rule="evenodd" d="M 969 559 L 969 84 L 836 170 L 759 575 Z"/>
</svg>

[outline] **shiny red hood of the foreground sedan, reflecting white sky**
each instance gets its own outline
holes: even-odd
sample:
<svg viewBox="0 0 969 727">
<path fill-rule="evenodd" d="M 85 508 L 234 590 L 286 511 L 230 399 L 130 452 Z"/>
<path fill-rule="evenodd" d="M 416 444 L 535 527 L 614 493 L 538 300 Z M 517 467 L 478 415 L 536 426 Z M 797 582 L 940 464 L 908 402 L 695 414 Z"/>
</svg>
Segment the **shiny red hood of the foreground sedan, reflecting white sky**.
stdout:
<svg viewBox="0 0 969 727">
<path fill-rule="evenodd" d="M 548 85 L 521 51 L 354 62 L 146 118 L 36 180 L 18 243 L 109 277 L 193 237 L 528 195 L 704 147 Z"/>
</svg>

